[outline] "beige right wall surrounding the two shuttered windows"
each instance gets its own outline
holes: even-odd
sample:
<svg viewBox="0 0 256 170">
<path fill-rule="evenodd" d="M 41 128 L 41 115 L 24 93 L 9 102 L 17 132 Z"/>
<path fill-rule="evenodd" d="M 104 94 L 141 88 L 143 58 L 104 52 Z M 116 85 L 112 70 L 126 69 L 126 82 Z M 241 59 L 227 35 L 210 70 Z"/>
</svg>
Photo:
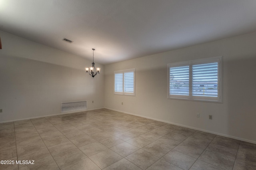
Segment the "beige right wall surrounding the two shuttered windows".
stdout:
<svg viewBox="0 0 256 170">
<path fill-rule="evenodd" d="M 105 107 L 256 143 L 255 44 L 256 32 L 105 65 Z M 168 63 L 217 56 L 223 103 L 167 99 Z M 114 95 L 114 71 L 132 68 L 136 96 Z"/>
</svg>

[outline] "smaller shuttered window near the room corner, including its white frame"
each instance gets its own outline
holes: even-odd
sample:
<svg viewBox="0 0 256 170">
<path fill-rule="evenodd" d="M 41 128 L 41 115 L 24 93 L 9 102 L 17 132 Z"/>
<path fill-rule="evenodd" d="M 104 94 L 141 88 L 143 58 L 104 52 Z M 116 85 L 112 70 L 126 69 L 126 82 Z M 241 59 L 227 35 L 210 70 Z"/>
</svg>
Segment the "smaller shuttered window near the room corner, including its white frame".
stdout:
<svg viewBox="0 0 256 170">
<path fill-rule="evenodd" d="M 135 69 L 115 71 L 114 94 L 135 95 Z"/>
</svg>

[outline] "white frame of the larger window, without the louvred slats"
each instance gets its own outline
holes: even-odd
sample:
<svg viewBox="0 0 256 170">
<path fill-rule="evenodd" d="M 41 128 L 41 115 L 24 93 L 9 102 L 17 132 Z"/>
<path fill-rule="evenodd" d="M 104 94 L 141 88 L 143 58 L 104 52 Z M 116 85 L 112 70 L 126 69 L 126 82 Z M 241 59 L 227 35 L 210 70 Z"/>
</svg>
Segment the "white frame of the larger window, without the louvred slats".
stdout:
<svg viewBox="0 0 256 170">
<path fill-rule="evenodd" d="M 207 96 L 197 96 L 192 95 L 192 66 L 207 64 L 207 63 L 218 63 L 218 97 L 207 97 Z M 172 67 L 183 67 L 189 66 L 189 95 L 171 95 L 170 94 L 170 68 Z M 202 101 L 202 102 L 212 102 L 212 103 L 222 103 L 222 56 L 211 57 L 206 59 L 196 59 L 190 61 L 183 61 L 177 63 L 168 64 L 168 99 L 177 100 L 188 100 L 188 101 Z"/>
</svg>

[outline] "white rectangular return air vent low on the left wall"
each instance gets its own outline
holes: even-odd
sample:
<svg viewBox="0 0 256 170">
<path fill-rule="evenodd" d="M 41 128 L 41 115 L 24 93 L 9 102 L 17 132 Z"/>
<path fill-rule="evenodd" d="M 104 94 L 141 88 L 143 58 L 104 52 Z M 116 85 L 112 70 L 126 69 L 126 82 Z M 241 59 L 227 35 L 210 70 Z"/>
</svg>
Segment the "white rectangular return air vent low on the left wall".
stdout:
<svg viewBox="0 0 256 170">
<path fill-rule="evenodd" d="M 87 109 L 87 101 L 61 103 L 61 113 L 74 112 Z"/>
</svg>

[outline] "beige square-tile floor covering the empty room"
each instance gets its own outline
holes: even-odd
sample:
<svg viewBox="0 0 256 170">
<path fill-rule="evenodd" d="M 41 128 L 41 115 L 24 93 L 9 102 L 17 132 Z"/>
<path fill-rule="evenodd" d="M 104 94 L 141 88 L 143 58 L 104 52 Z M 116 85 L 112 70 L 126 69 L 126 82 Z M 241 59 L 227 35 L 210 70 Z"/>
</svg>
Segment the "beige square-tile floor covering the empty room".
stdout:
<svg viewBox="0 0 256 170">
<path fill-rule="evenodd" d="M 108 109 L 0 124 L 0 169 L 256 170 L 256 144 Z"/>
</svg>

